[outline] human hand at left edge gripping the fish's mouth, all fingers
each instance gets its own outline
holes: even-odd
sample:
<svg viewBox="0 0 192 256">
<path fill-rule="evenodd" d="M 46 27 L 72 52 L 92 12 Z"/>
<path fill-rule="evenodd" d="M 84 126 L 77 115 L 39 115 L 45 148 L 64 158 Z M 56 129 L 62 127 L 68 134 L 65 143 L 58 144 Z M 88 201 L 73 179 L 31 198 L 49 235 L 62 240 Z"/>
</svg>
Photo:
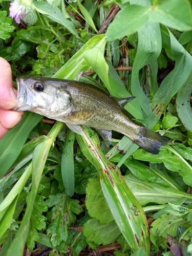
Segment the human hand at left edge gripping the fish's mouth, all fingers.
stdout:
<svg viewBox="0 0 192 256">
<path fill-rule="evenodd" d="M 10 111 L 16 106 L 17 91 L 13 89 L 11 67 L 0 57 L 0 139 L 15 126 L 24 112 Z"/>
</svg>

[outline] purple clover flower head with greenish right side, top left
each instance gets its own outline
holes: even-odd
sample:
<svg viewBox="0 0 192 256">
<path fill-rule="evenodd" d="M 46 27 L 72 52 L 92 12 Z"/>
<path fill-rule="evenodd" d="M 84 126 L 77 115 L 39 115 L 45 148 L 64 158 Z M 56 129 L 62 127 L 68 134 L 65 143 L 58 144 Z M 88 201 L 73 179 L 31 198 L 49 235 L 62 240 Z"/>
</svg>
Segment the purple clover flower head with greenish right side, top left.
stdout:
<svg viewBox="0 0 192 256">
<path fill-rule="evenodd" d="M 26 24 L 33 25 L 37 21 L 37 14 L 33 10 L 32 0 L 15 0 L 10 4 L 9 16 L 15 18 L 16 23 L 24 20 Z"/>
</svg>

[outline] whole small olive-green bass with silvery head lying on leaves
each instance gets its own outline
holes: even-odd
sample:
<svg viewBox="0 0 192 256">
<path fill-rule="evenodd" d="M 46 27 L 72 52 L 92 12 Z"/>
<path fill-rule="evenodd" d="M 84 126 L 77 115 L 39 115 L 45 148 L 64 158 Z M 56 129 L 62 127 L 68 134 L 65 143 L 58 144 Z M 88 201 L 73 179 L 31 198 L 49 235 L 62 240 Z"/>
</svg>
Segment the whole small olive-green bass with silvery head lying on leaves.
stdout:
<svg viewBox="0 0 192 256">
<path fill-rule="evenodd" d="M 135 123 L 123 112 L 123 105 L 135 97 L 117 99 L 89 83 L 44 77 L 16 78 L 17 105 L 14 111 L 31 111 L 65 122 L 75 133 L 81 125 L 95 128 L 106 145 L 112 131 L 129 137 L 146 152 L 157 155 L 168 140 Z"/>
</svg>

